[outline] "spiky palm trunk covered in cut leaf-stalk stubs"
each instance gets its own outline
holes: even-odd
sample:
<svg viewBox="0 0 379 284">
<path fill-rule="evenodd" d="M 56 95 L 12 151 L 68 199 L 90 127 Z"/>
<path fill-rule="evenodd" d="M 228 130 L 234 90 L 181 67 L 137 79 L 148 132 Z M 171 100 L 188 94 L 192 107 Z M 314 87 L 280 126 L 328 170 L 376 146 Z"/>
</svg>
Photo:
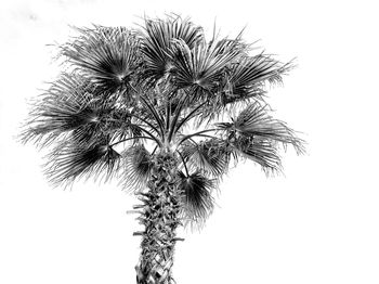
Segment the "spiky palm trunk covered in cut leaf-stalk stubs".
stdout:
<svg viewBox="0 0 379 284">
<path fill-rule="evenodd" d="M 145 227 L 142 235 L 141 257 L 136 270 L 138 284 L 173 284 L 171 274 L 179 225 L 179 202 L 177 160 L 170 153 L 154 157 L 148 191 L 141 193 L 141 216 Z"/>
</svg>

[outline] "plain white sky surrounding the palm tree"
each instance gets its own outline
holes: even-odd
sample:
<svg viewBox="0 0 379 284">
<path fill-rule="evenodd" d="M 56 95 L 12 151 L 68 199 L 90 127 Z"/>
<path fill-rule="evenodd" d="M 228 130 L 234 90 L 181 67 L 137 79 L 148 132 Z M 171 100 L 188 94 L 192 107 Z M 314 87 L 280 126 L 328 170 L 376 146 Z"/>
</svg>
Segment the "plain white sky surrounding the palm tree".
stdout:
<svg viewBox="0 0 379 284">
<path fill-rule="evenodd" d="M 3 1 L 0 11 L 0 283 L 134 283 L 136 203 L 116 183 L 51 189 L 42 153 L 13 140 L 26 100 L 57 66 L 48 43 L 69 25 L 125 25 L 175 12 L 224 35 L 247 25 L 299 67 L 271 92 L 276 116 L 306 133 L 286 177 L 231 171 L 201 233 L 180 232 L 174 276 L 190 283 L 379 283 L 376 1 Z"/>
</svg>

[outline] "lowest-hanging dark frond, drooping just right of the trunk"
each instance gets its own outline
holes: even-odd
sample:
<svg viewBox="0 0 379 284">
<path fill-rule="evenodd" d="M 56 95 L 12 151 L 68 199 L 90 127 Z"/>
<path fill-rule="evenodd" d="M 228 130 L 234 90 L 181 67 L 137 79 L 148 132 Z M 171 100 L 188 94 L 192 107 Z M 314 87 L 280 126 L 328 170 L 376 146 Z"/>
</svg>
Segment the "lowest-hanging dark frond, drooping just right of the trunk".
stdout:
<svg viewBox="0 0 379 284">
<path fill-rule="evenodd" d="M 211 193 L 215 189 L 214 181 L 206 178 L 200 171 L 188 176 L 179 172 L 179 180 L 184 219 L 192 225 L 201 224 L 213 210 Z"/>
</svg>

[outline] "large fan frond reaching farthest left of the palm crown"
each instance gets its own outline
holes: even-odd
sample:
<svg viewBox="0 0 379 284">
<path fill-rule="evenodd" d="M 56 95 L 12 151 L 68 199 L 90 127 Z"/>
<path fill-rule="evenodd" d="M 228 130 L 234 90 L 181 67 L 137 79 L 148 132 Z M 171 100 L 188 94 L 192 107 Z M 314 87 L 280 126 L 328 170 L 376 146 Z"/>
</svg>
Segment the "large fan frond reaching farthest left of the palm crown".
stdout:
<svg viewBox="0 0 379 284">
<path fill-rule="evenodd" d="M 97 95 L 95 86 L 82 76 L 63 74 L 32 105 L 21 139 L 43 146 L 70 130 L 90 135 L 106 113 Z"/>
</svg>

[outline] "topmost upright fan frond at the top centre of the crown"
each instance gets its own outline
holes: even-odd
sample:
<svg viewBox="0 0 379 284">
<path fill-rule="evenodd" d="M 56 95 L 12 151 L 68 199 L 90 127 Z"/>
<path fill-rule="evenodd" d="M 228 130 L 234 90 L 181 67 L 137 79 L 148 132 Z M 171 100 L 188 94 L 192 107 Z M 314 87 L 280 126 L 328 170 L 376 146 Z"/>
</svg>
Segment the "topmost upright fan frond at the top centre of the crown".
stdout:
<svg viewBox="0 0 379 284">
<path fill-rule="evenodd" d="M 171 68 L 169 54 L 173 39 L 183 40 L 193 48 L 204 40 L 202 28 L 188 18 L 170 15 L 166 20 L 145 18 L 142 52 L 145 56 L 145 76 L 158 80 Z"/>
</svg>

